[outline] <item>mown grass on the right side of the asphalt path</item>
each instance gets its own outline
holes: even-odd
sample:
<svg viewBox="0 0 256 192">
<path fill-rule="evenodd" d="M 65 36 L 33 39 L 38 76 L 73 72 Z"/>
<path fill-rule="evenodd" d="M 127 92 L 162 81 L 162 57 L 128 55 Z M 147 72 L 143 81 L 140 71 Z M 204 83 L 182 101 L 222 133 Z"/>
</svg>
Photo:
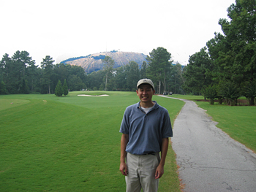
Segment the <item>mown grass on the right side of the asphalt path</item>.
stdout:
<svg viewBox="0 0 256 192">
<path fill-rule="evenodd" d="M 255 106 L 227 106 L 225 104 L 210 105 L 207 101 L 197 101 L 203 96 L 173 95 L 180 99 L 196 102 L 198 107 L 206 110 L 212 120 L 218 122 L 217 127 L 225 131 L 230 137 L 241 142 L 256 152 L 256 107 Z M 244 99 L 241 97 L 239 99 Z"/>
</svg>

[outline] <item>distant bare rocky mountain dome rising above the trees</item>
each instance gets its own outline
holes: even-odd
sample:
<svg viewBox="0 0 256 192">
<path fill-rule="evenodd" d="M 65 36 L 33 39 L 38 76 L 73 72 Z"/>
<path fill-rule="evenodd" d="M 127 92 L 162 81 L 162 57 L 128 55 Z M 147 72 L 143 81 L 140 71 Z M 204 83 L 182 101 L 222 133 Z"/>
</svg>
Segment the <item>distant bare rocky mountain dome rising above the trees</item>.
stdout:
<svg viewBox="0 0 256 192">
<path fill-rule="evenodd" d="M 146 55 L 143 53 L 133 53 L 133 52 L 119 52 L 116 50 L 104 53 L 95 53 L 87 56 L 82 56 L 78 58 L 69 58 L 65 61 L 61 61 L 61 64 L 69 64 L 82 66 L 83 69 L 89 74 L 94 71 L 99 71 L 103 68 L 102 59 L 105 56 L 109 56 L 115 61 L 114 68 L 119 66 L 124 66 L 129 63 L 129 61 L 135 61 L 139 66 L 146 61 Z"/>
</svg>

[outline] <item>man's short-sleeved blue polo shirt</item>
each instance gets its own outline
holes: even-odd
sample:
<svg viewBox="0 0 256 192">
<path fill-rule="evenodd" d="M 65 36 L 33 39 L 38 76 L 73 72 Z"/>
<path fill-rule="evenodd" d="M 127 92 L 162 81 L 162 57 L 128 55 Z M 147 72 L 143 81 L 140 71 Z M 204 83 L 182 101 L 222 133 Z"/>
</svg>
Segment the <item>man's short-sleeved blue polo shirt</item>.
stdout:
<svg viewBox="0 0 256 192">
<path fill-rule="evenodd" d="M 160 152 L 162 139 L 173 137 L 168 111 L 157 101 L 154 103 L 147 114 L 140 108 L 140 102 L 125 110 L 119 132 L 129 134 L 127 153 L 143 155 Z"/>
</svg>

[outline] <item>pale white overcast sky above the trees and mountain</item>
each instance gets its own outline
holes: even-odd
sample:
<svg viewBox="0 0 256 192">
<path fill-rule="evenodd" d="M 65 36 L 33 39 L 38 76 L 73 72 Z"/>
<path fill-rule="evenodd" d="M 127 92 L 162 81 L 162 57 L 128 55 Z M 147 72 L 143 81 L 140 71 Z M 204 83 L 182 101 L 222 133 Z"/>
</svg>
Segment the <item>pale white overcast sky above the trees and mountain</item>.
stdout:
<svg viewBox="0 0 256 192">
<path fill-rule="evenodd" d="M 67 58 L 164 47 L 188 63 L 235 0 L 0 0 L 0 55 L 26 50 L 40 66 L 46 55 Z"/>
</svg>

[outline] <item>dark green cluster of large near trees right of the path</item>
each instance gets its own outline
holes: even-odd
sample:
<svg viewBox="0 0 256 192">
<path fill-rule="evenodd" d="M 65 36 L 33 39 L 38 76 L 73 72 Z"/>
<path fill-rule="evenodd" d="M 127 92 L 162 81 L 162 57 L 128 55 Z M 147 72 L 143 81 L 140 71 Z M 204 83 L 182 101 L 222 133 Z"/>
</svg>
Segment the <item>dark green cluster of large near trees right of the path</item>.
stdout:
<svg viewBox="0 0 256 192">
<path fill-rule="evenodd" d="M 235 105 L 246 96 L 255 105 L 256 96 L 256 1 L 236 0 L 227 8 L 227 19 L 219 19 L 223 34 L 206 42 L 189 56 L 184 68 L 184 91 L 203 94 L 214 104 L 218 99 Z"/>
</svg>

